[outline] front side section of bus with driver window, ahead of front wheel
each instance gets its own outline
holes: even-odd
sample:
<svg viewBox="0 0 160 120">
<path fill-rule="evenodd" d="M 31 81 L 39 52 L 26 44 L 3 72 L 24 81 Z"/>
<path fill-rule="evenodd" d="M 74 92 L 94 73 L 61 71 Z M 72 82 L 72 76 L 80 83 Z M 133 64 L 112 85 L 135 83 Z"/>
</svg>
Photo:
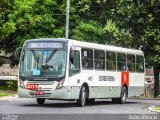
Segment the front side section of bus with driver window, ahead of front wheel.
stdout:
<svg viewBox="0 0 160 120">
<path fill-rule="evenodd" d="M 78 99 L 79 91 L 80 91 L 80 49 L 78 47 L 74 47 L 70 51 L 69 56 L 69 86 L 71 93 L 69 94 L 69 98 Z"/>
</svg>

